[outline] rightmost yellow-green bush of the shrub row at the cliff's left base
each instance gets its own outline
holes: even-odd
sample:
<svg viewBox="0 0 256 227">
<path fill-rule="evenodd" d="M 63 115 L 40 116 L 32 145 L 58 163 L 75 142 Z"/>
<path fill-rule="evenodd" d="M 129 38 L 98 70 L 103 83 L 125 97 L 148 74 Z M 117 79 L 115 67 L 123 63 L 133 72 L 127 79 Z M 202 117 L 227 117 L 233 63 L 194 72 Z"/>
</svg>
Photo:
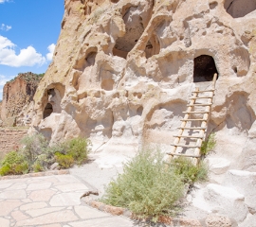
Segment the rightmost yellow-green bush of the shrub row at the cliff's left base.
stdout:
<svg viewBox="0 0 256 227">
<path fill-rule="evenodd" d="M 65 144 L 67 148 L 66 153 L 71 155 L 78 165 L 82 165 L 88 158 L 89 144 L 89 140 L 85 138 L 73 138 Z"/>
</svg>

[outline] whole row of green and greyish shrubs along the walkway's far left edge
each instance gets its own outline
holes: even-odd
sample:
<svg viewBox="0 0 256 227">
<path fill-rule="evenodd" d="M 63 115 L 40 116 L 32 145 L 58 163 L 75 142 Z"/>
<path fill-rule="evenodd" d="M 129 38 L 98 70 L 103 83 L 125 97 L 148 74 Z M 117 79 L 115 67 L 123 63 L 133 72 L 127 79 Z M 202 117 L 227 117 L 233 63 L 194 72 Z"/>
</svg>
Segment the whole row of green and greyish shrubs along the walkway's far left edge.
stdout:
<svg viewBox="0 0 256 227">
<path fill-rule="evenodd" d="M 0 175 L 45 171 L 54 163 L 58 163 L 58 168 L 82 165 L 87 160 L 90 141 L 73 138 L 49 146 L 42 134 L 35 134 L 26 136 L 21 143 L 23 148 L 10 151 L 3 157 Z"/>
</svg>

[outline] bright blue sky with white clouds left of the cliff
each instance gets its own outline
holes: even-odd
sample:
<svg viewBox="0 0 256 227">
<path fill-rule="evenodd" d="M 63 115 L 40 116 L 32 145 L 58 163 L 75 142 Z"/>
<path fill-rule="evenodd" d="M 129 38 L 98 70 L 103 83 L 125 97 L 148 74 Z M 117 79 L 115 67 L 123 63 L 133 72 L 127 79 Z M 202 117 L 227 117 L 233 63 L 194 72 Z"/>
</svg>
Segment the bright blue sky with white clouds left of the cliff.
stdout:
<svg viewBox="0 0 256 227">
<path fill-rule="evenodd" d="M 64 16 L 64 0 L 0 0 L 0 100 L 18 73 L 45 73 Z"/>
</svg>

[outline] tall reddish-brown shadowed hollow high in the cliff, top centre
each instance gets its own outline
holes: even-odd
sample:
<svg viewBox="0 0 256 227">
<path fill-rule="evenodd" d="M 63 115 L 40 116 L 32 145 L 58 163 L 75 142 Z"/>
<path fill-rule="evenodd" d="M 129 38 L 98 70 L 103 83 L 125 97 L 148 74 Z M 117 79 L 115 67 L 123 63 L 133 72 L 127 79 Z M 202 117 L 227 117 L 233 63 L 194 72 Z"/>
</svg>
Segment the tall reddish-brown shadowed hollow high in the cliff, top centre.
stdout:
<svg viewBox="0 0 256 227">
<path fill-rule="evenodd" d="M 144 26 L 137 7 L 129 8 L 122 19 L 125 24 L 125 34 L 116 40 L 113 55 L 126 59 L 128 53 L 134 48 L 144 32 Z"/>
</svg>

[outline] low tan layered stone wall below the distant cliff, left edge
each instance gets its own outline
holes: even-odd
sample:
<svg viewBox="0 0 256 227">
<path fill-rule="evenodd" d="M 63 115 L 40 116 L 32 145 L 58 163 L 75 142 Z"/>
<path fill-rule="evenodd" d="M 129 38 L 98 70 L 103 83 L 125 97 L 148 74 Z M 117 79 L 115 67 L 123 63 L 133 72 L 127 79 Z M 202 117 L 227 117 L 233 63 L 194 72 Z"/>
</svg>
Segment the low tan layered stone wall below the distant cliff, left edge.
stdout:
<svg viewBox="0 0 256 227">
<path fill-rule="evenodd" d="M 0 155 L 19 148 L 27 129 L 0 128 Z"/>
</svg>

